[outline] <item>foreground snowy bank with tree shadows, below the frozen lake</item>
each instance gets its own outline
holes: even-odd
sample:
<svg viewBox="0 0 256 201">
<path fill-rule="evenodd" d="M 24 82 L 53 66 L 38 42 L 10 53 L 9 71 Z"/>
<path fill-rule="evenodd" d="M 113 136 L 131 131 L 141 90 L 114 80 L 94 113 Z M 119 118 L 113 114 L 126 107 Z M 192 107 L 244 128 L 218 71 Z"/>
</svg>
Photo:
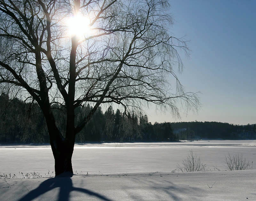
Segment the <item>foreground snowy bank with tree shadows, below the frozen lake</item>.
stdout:
<svg viewBox="0 0 256 201">
<path fill-rule="evenodd" d="M 256 200 L 256 171 L 0 179 L 0 200 Z"/>
</svg>

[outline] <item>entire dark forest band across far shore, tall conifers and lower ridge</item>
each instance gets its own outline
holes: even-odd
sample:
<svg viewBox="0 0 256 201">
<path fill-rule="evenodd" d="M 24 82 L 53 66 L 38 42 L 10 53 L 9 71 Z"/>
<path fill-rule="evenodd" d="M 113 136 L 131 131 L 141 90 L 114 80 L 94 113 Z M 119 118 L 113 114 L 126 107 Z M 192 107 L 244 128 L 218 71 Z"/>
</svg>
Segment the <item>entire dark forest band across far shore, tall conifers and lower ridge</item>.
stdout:
<svg viewBox="0 0 256 201">
<path fill-rule="evenodd" d="M 25 103 L 18 98 L 0 95 L 0 143 L 49 143 L 44 116 L 35 102 Z M 52 105 L 57 127 L 65 135 L 65 108 Z M 89 113 L 91 106 L 76 108 L 78 123 Z M 135 112 L 124 114 L 111 106 L 103 112 L 98 108 L 92 120 L 76 135 L 76 143 L 87 141 L 175 141 L 199 138 L 254 138 L 254 125 L 233 125 L 219 122 L 148 122 L 147 115 Z"/>
</svg>

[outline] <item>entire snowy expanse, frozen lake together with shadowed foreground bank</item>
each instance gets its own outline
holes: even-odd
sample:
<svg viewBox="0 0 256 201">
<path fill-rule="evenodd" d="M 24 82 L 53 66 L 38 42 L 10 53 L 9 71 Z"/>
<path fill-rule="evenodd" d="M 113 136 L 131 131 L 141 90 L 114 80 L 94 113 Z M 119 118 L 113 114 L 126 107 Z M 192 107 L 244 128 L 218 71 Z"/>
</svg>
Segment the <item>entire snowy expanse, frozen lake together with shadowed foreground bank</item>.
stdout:
<svg viewBox="0 0 256 201">
<path fill-rule="evenodd" d="M 0 173 L 17 178 L 0 179 L 0 201 L 256 200 L 255 169 L 212 171 L 226 169 L 228 153 L 256 161 L 255 145 L 255 140 L 76 145 L 72 164 L 80 175 L 36 179 L 20 179 L 19 171 L 51 173 L 50 146 L 2 145 Z M 191 149 L 211 171 L 171 173 Z"/>
</svg>

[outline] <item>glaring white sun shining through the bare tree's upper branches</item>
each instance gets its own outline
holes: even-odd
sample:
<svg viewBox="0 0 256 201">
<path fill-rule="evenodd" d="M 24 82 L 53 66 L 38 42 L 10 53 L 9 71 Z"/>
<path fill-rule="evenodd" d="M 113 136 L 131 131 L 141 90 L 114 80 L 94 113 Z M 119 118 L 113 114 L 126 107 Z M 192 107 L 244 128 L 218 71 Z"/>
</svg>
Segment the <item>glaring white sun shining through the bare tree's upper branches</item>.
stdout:
<svg viewBox="0 0 256 201">
<path fill-rule="evenodd" d="M 68 35 L 77 36 L 80 39 L 90 35 L 90 19 L 81 14 L 67 19 Z"/>
</svg>

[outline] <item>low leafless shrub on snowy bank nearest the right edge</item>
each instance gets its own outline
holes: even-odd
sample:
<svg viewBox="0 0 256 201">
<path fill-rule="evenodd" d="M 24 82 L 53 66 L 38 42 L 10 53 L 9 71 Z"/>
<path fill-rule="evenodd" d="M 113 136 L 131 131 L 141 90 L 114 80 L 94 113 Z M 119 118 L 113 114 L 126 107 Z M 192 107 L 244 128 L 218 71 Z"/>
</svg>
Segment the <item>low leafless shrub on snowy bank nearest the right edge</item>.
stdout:
<svg viewBox="0 0 256 201">
<path fill-rule="evenodd" d="M 243 158 L 243 154 L 236 154 L 231 156 L 228 153 L 228 156 L 225 155 L 227 169 L 229 170 L 247 170 L 252 168 L 249 164 L 249 161 L 246 161 L 246 158 Z"/>
</svg>

